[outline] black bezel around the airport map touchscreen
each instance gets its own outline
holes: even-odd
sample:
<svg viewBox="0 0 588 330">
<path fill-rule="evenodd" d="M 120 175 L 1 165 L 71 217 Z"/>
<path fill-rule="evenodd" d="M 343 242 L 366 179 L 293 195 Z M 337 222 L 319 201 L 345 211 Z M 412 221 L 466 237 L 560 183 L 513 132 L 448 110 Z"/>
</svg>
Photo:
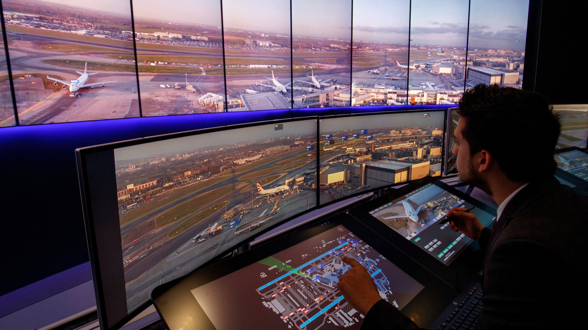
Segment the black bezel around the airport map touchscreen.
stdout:
<svg viewBox="0 0 588 330">
<path fill-rule="evenodd" d="M 386 240 L 374 235 L 372 230 L 355 218 L 341 213 L 330 218 L 316 220 L 303 228 L 260 244 L 252 250 L 217 262 L 209 267 L 193 271 L 181 279 L 160 285 L 153 289 L 151 294 L 153 305 L 168 329 L 216 329 L 192 295 L 192 289 L 240 270 L 310 237 L 335 228 L 337 225 L 343 225 L 353 234 L 358 235 L 359 238 L 375 248 L 390 262 L 425 286 L 402 309 L 403 314 L 413 318 L 417 325 L 426 327 L 432 324 L 440 312 L 455 297 L 455 290 L 445 282 L 422 268 L 421 265 L 402 251 L 397 250 Z M 191 319 L 193 323 L 188 325 L 186 319 Z"/>
</svg>

